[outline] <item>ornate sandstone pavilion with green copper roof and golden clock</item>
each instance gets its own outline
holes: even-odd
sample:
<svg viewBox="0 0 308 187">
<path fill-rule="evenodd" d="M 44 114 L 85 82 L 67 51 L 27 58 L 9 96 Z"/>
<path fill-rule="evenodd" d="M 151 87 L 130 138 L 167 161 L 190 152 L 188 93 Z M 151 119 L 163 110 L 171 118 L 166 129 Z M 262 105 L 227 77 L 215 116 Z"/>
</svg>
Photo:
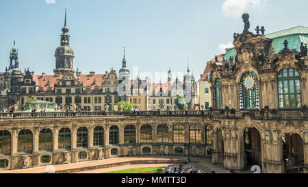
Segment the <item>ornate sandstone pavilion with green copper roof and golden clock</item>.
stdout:
<svg viewBox="0 0 308 187">
<path fill-rule="evenodd" d="M 222 64 L 211 64 L 213 162 L 259 165 L 265 173 L 307 172 L 307 27 L 234 34 Z M 239 120 L 245 119 L 245 121 Z"/>
</svg>

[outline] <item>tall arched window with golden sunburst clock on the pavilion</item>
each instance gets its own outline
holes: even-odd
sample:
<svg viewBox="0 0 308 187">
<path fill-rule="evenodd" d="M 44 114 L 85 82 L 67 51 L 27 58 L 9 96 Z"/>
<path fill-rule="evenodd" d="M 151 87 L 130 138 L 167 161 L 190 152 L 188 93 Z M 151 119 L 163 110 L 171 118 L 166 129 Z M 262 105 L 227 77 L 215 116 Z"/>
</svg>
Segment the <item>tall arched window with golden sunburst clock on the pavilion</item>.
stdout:
<svg viewBox="0 0 308 187">
<path fill-rule="evenodd" d="M 259 109 L 258 79 L 253 71 L 242 75 L 240 82 L 240 109 Z"/>
</svg>

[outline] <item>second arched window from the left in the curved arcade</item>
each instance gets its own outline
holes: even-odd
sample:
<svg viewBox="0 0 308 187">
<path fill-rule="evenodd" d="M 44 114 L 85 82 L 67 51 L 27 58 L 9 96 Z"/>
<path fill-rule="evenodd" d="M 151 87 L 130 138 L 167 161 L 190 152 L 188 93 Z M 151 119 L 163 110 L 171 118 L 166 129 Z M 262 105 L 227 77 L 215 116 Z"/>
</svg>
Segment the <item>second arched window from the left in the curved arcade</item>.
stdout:
<svg viewBox="0 0 308 187">
<path fill-rule="evenodd" d="M 18 133 L 18 154 L 31 154 L 33 135 L 30 130 L 22 130 Z"/>
</svg>

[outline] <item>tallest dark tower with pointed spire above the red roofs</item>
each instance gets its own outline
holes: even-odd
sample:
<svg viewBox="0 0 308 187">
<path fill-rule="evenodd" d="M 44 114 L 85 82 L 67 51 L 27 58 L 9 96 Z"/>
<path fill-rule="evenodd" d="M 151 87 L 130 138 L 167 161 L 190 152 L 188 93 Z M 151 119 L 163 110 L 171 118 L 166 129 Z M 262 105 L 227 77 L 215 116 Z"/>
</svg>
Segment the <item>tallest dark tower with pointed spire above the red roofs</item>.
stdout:
<svg viewBox="0 0 308 187">
<path fill-rule="evenodd" d="M 64 27 L 61 34 L 61 45 L 55 50 L 55 74 L 75 73 L 73 69 L 74 51 L 70 47 L 70 36 L 68 35 L 68 27 L 66 26 L 66 8 Z"/>
</svg>

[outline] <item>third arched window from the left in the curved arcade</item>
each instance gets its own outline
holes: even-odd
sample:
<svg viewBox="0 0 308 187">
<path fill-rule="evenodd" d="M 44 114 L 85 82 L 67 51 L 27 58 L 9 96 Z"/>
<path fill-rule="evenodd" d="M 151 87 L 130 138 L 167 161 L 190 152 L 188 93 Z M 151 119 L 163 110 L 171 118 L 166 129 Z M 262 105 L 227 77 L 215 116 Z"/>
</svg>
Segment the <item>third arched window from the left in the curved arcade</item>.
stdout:
<svg viewBox="0 0 308 187">
<path fill-rule="evenodd" d="M 53 132 L 51 129 L 42 129 L 38 139 L 39 151 L 53 151 Z"/>
</svg>

